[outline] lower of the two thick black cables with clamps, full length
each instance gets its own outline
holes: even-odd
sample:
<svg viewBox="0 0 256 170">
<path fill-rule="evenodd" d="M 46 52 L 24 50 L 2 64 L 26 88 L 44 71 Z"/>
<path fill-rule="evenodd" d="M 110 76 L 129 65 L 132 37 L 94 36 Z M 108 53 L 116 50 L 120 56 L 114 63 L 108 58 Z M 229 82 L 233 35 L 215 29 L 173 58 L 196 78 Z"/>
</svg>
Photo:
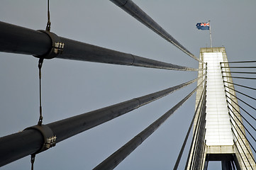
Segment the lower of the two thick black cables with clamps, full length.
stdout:
<svg viewBox="0 0 256 170">
<path fill-rule="evenodd" d="M 204 75 L 202 75 L 203 77 Z M 178 86 L 173 86 L 169 89 L 157 91 L 146 96 L 133 98 L 129 101 L 117 103 L 106 108 L 101 108 L 96 111 L 84 113 L 82 115 L 76 115 L 71 118 L 59 120 L 54 123 L 49 123 L 47 126 L 51 131 L 52 135 L 56 136 L 56 142 L 60 142 L 69 137 L 77 135 L 80 132 L 94 128 L 96 125 L 117 118 L 120 115 L 133 111 L 140 106 L 148 104 L 152 101 L 157 100 L 171 94 L 172 92 L 187 86 L 197 79 L 188 81 Z M 14 133 L 5 137 L 0 137 L 0 166 L 9 164 L 10 162 L 26 157 L 29 154 L 33 154 L 40 150 L 44 144 L 44 137 L 41 132 L 35 129 L 23 130 L 22 132 Z"/>
</svg>

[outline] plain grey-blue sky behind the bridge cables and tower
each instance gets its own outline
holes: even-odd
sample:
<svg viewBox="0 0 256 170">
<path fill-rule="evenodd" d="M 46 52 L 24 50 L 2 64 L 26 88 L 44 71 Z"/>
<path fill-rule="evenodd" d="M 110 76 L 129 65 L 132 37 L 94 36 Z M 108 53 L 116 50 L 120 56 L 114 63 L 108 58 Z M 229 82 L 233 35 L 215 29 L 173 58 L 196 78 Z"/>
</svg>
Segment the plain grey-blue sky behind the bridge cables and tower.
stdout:
<svg viewBox="0 0 256 170">
<path fill-rule="evenodd" d="M 229 61 L 255 60 L 256 1 L 134 2 L 197 57 L 200 47 L 210 46 L 210 38 L 207 30 L 196 29 L 196 23 L 211 20 L 213 47 L 226 47 Z M 51 31 L 61 37 L 162 62 L 198 67 L 196 60 L 111 1 L 51 0 L 50 20 Z M 34 30 L 45 29 L 47 1 L 1 0 L 0 21 Z M 43 123 L 144 96 L 196 77 L 196 72 L 45 60 L 42 69 Z M 0 82 L 0 137 L 37 124 L 38 59 L 0 52 Z M 254 85 L 251 81 L 235 82 Z M 36 155 L 34 168 L 93 169 L 195 87 L 196 84 L 187 86 L 57 143 L 55 147 Z M 194 114 L 194 105 L 195 94 L 116 169 L 172 169 Z M 190 142 L 191 135 L 179 169 L 184 169 Z M 209 169 L 219 168 L 219 163 L 209 164 Z M 1 169 L 30 169 L 30 156 Z"/>
</svg>

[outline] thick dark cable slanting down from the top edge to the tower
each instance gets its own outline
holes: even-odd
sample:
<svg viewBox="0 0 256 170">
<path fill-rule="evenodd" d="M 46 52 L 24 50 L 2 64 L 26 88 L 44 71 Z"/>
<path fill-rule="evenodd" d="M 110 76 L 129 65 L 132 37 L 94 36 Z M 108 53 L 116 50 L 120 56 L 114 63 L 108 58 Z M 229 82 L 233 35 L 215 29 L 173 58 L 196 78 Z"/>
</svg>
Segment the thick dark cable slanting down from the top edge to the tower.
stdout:
<svg viewBox="0 0 256 170">
<path fill-rule="evenodd" d="M 175 40 L 172 35 L 169 35 L 166 30 L 164 30 L 161 26 L 158 25 L 150 16 L 148 16 L 147 13 L 145 13 L 139 6 L 137 6 L 133 1 L 131 0 L 110 0 L 113 2 L 113 4 L 116 4 L 120 8 L 123 9 L 123 11 L 126 11 L 130 14 L 130 16 L 133 16 L 133 18 L 140 21 L 140 23 L 143 23 L 145 26 L 150 28 L 150 30 L 154 31 L 158 35 L 160 35 L 162 38 L 167 40 L 168 42 L 171 42 L 173 45 L 179 48 L 179 50 L 182 50 L 190 57 L 194 58 L 194 60 L 197 60 L 201 62 L 196 56 L 194 56 L 189 50 L 187 50 L 185 47 L 183 47 L 177 40 Z"/>
</svg>

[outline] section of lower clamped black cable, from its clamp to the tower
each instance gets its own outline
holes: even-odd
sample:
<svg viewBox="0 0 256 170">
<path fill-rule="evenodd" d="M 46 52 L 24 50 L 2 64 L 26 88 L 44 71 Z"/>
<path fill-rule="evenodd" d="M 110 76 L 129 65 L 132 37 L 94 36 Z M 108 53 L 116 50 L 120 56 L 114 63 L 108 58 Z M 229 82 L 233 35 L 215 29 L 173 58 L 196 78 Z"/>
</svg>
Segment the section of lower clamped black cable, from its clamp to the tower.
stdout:
<svg viewBox="0 0 256 170">
<path fill-rule="evenodd" d="M 173 93 L 174 91 L 187 86 L 191 84 L 192 82 L 201 79 L 201 77 L 194 79 L 193 81 L 189 81 L 184 84 L 180 84 L 178 86 L 174 86 L 162 91 L 157 91 L 152 94 L 148 94 L 145 96 L 140 96 L 138 98 L 133 98 L 128 101 L 124 101 L 121 103 L 117 103 L 112 106 L 108 106 L 106 108 L 100 108 L 96 111 L 90 111 L 88 113 L 84 113 L 82 115 L 77 115 L 72 118 L 67 118 L 64 120 L 59 120 L 57 123 L 48 124 L 50 128 L 56 128 L 60 134 L 64 133 L 63 136 L 65 138 L 71 137 L 73 134 L 73 131 L 82 132 L 84 130 L 89 130 L 90 128 L 94 128 L 97 125 L 101 125 L 102 123 L 107 122 L 108 120 L 112 120 L 114 118 L 117 118 L 118 116 L 121 116 L 125 113 L 128 113 L 130 111 L 133 111 L 136 108 L 139 108 L 140 106 L 144 106 L 145 104 L 148 104 L 152 101 L 157 100 L 158 98 L 162 98 L 163 96 L 167 96 L 167 94 Z M 73 123 L 70 123 L 72 121 Z M 82 129 L 77 128 L 80 127 Z M 58 128 L 62 127 L 62 128 Z M 72 130 L 75 128 L 75 130 Z M 69 136 L 70 133 L 70 136 Z M 57 142 L 62 140 L 62 135 L 57 135 Z"/>
</svg>

